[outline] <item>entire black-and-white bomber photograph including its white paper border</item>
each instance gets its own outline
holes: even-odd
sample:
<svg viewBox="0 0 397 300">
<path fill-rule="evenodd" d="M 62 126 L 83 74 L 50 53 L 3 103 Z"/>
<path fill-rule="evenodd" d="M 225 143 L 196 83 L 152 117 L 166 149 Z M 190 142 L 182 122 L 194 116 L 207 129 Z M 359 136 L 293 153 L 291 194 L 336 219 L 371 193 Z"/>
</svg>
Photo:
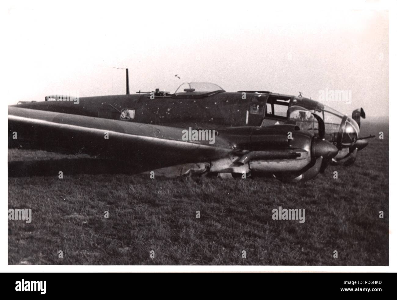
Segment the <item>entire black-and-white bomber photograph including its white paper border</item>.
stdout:
<svg viewBox="0 0 397 300">
<path fill-rule="evenodd" d="M 388 5 L 8 2 L 8 268 L 388 267 Z"/>
</svg>

